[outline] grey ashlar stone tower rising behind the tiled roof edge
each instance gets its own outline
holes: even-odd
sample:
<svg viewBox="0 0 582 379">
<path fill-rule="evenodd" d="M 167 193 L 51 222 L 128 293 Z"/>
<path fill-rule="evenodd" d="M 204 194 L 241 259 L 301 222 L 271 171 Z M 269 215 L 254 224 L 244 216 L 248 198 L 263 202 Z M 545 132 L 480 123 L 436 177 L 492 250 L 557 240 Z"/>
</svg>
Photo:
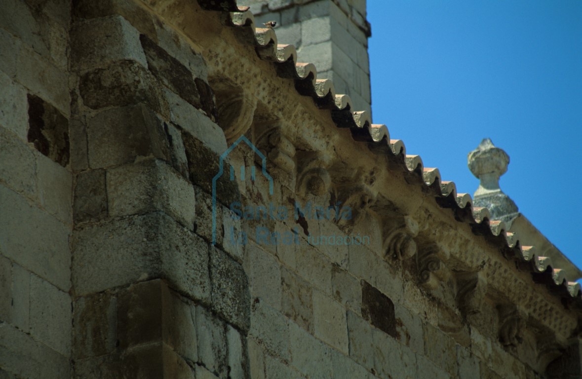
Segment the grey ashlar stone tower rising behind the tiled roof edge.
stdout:
<svg viewBox="0 0 582 379">
<path fill-rule="evenodd" d="M 275 21 L 279 44 L 297 48 L 299 62 L 314 63 L 317 79 L 331 79 L 354 111 L 371 111 L 365 0 L 244 0 L 257 24 Z"/>
</svg>

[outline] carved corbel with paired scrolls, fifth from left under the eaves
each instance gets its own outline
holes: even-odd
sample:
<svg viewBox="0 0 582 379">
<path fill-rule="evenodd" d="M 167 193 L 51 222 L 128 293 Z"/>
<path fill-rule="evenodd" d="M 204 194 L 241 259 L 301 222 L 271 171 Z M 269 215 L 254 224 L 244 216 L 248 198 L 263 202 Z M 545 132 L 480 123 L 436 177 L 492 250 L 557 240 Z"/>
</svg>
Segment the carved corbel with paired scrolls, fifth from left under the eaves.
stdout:
<svg viewBox="0 0 582 379">
<path fill-rule="evenodd" d="M 414 237 L 418 235 L 418 223 L 410 216 L 404 216 L 399 225 L 388 228 L 384 235 L 385 257 L 406 260 L 416 254 Z"/>
</svg>

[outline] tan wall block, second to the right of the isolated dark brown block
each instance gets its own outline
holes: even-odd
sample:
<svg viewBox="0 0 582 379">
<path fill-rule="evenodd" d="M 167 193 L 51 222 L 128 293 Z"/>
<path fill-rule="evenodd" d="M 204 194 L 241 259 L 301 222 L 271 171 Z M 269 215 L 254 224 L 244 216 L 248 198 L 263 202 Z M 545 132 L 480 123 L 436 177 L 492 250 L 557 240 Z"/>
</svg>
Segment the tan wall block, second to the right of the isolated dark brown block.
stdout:
<svg viewBox="0 0 582 379">
<path fill-rule="evenodd" d="M 423 325 L 424 352 L 428 359 L 437 363 L 442 370 L 453 375 L 457 372 L 457 348 L 455 340 L 433 327 Z"/>
</svg>

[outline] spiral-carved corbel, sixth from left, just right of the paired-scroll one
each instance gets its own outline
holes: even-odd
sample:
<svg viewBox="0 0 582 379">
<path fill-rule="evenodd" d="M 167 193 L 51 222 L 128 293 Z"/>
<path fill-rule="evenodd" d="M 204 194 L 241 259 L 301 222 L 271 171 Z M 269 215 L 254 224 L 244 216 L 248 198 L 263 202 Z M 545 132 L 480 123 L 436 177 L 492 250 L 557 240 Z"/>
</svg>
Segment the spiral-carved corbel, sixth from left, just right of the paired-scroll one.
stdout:
<svg viewBox="0 0 582 379">
<path fill-rule="evenodd" d="M 444 263 L 448 254 L 440 252 L 435 245 L 424 245 L 418 249 L 417 257 L 420 284 L 424 288 L 437 289 L 440 282 L 448 281 L 450 272 Z"/>
</svg>

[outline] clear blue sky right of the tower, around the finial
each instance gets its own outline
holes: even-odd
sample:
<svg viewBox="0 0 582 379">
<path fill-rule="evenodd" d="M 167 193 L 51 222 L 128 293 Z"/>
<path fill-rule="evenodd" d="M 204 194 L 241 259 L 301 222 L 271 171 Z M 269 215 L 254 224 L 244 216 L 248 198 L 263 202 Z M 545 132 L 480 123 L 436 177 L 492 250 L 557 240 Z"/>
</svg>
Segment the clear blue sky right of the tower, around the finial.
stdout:
<svg viewBox="0 0 582 379">
<path fill-rule="evenodd" d="M 582 268 L 582 1 L 368 0 L 372 115 L 473 196 L 489 137 L 500 180 Z"/>
</svg>

